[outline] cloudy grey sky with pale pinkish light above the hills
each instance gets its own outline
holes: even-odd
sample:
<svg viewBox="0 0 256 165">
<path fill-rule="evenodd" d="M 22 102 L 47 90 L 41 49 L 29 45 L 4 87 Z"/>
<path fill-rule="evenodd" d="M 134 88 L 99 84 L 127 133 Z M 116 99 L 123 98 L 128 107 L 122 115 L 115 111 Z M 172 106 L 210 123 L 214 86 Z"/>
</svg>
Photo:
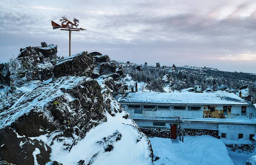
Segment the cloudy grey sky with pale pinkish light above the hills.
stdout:
<svg viewBox="0 0 256 165">
<path fill-rule="evenodd" d="M 58 45 L 68 56 L 68 32 L 52 29 L 62 16 L 73 32 L 71 53 L 98 51 L 137 64 L 213 67 L 256 73 L 255 0 L 1 0 L 0 61 L 20 48 Z"/>
</svg>

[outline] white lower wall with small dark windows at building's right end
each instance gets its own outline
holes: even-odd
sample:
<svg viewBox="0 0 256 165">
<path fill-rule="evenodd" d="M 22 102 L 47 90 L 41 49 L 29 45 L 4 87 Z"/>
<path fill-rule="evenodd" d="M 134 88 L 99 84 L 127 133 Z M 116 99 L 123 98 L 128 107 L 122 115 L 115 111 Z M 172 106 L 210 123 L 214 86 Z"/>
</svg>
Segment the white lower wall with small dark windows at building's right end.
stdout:
<svg viewBox="0 0 256 165">
<path fill-rule="evenodd" d="M 238 134 L 244 134 L 243 140 L 249 140 L 250 134 L 256 134 L 256 126 L 249 124 L 218 124 L 219 135 L 226 134 L 227 140 L 239 140 Z"/>
</svg>

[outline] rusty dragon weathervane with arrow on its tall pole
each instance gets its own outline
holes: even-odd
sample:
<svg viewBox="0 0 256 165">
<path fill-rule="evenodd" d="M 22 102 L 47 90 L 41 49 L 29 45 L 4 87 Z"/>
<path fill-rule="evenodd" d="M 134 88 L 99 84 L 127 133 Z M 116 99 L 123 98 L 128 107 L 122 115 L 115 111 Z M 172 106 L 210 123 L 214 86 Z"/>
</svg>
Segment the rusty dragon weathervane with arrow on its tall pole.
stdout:
<svg viewBox="0 0 256 165">
<path fill-rule="evenodd" d="M 60 19 L 60 22 L 61 22 L 61 25 L 58 25 L 57 23 L 52 21 L 52 28 L 53 29 L 61 28 L 61 31 L 69 31 L 70 48 L 71 48 L 71 31 L 86 31 L 86 29 L 77 28 L 79 25 L 78 24 L 79 20 L 77 20 L 76 18 L 74 18 L 74 20 L 73 20 L 74 23 L 71 22 L 70 20 L 68 20 L 66 17 L 62 17 L 62 19 Z M 76 28 L 74 28 L 74 27 L 76 27 Z M 69 54 L 69 56 L 70 56 L 70 54 Z"/>
</svg>

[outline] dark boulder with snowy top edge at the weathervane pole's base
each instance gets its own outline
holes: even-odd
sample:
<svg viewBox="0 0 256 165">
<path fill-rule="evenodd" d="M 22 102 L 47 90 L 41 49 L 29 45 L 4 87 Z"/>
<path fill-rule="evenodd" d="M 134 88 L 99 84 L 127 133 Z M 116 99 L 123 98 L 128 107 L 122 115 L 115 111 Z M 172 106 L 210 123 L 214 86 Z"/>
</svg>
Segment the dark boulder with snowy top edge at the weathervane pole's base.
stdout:
<svg viewBox="0 0 256 165">
<path fill-rule="evenodd" d="M 91 76 L 93 67 L 93 56 L 88 52 L 81 52 L 59 61 L 52 72 L 55 78 L 61 76 Z"/>
</svg>

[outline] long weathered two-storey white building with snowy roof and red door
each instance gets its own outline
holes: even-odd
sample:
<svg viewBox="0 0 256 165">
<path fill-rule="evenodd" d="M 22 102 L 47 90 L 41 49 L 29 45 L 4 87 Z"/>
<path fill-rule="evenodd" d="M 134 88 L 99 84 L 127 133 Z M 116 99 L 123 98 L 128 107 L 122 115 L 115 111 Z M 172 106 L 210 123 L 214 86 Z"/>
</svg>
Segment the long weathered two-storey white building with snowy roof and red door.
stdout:
<svg viewBox="0 0 256 165">
<path fill-rule="evenodd" d="M 233 93 L 127 92 L 119 103 L 149 137 L 176 139 L 177 117 L 185 135 L 253 140 L 256 108 Z"/>
</svg>

